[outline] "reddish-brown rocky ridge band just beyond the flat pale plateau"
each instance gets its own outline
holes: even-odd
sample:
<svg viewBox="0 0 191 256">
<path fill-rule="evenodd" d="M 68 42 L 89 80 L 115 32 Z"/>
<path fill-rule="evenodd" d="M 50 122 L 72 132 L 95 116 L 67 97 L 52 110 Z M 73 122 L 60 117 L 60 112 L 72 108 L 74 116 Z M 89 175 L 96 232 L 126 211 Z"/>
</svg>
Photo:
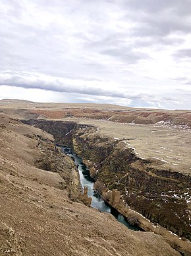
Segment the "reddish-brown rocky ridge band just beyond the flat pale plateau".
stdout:
<svg viewBox="0 0 191 256">
<path fill-rule="evenodd" d="M 166 124 L 191 128 L 191 112 L 171 112 L 167 110 L 96 110 L 96 109 L 66 109 L 66 110 L 32 110 L 32 114 L 58 119 L 64 117 L 89 118 L 92 120 L 109 120 L 119 123 Z"/>
</svg>

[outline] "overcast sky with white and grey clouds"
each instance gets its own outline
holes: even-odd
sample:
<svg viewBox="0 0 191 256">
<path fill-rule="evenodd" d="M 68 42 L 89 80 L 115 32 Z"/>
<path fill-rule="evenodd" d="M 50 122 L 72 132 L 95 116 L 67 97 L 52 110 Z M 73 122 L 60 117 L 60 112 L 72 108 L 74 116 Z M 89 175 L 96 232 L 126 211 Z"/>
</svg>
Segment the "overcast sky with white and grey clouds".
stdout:
<svg viewBox="0 0 191 256">
<path fill-rule="evenodd" d="M 0 0 L 0 99 L 191 109 L 191 0 Z"/>
</svg>

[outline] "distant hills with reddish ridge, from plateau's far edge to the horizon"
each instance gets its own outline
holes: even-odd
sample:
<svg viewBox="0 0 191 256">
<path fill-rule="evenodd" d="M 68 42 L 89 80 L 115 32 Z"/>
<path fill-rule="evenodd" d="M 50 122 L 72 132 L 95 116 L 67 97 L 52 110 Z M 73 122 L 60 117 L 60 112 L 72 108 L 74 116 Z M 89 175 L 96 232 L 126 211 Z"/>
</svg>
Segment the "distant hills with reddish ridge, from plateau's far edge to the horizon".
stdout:
<svg viewBox="0 0 191 256">
<path fill-rule="evenodd" d="M 191 127 L 190 110 L 157 110 L 103 104 L 33 103 L 8 99 L 0 101 L 0 110 L 21 118 L 74 117 L 109 120 L 117 123 L 156 124 L 164 122 L 171 126 Z"/>
</svg>

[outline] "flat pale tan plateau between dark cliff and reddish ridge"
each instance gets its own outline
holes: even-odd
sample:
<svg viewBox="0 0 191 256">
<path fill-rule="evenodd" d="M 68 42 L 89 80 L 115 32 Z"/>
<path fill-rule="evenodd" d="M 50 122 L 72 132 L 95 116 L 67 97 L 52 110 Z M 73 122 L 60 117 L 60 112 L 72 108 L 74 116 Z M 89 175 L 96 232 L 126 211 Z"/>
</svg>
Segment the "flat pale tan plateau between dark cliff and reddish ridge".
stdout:
<svg viewBox="0 0 191 256">
<path fill-rule="evenodd" d="M 138 157 L 161 161 L 161 168 L 191 175 L 191 130 L 160 124 L 119 124 L 109 121 L 65 118 L 99 127 L 97 133 L 124 140 L 124 147 L 134 148 Z"/>
</svg>

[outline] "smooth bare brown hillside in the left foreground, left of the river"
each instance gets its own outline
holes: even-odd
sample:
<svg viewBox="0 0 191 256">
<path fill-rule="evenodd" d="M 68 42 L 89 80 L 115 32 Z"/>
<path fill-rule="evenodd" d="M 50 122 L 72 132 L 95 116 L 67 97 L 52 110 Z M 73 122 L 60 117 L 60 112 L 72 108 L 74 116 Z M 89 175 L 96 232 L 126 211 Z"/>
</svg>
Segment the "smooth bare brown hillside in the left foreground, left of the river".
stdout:
<svg viewBox="0 0 191 256">
<path fill-rule="evenodd" d="M 49 134 L 0 114 L 0 146 L 0 255 L 180 255 L 72 201 L 74 164 Z"/>
</svg>

